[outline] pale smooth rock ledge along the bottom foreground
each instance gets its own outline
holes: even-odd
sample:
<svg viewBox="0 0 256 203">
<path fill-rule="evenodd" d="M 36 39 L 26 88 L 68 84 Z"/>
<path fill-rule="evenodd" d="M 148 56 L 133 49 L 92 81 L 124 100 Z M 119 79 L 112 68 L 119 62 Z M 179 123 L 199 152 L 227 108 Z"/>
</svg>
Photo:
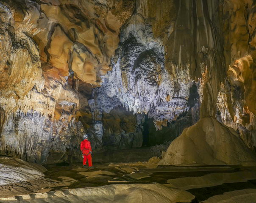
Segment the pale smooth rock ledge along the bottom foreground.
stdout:
<svg viewBox="0 0 256 203">
<path fill-rule="evenodd" d="M 66 189 L 61 191 L 52 191 L 38 193 L 36 195 L 24 195 L 19 200 L 26 202 L 74 202 L 90 201 L 92 203 L 143 203 L 150 201 L 152 203 L 175 203 L 191 202 L 195 196 L 189 192 L 180 189 L 169 189 L 160 184 L 113 184 L 102 187 Z M 19 202 L 15 198 L 2 198 L 3 203 Z"/>
</svg>

